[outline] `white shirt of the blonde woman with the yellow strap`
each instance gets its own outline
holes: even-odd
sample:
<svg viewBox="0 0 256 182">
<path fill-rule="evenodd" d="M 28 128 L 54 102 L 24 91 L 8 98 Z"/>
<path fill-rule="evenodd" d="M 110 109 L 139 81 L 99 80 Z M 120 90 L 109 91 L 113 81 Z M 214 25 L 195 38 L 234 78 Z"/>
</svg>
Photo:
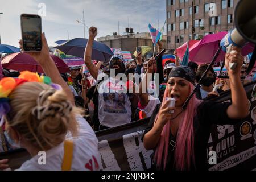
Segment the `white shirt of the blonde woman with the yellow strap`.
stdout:
<svg viewBox="0 0 256 182">
<path fill-rule="evenodd" d="M 77 138 L 68 133 L 66 140 L 73 140 L 72 171 L 94 171 L 101 168 L 100 153 L 98 152 L 98 139 L 88 122 L 81 117 L 76 117 L 79 124 Z M 40 155 L 42 156 L 42 155 Z M 27 160 L 18 171 L 61 171 L 64 156 L 64 142 L 59 146 L 46 151 L 46 165 L 40 165 L 36 155 Z M 39 159 L 39 161 L 42 161 Z"/>
</svg>

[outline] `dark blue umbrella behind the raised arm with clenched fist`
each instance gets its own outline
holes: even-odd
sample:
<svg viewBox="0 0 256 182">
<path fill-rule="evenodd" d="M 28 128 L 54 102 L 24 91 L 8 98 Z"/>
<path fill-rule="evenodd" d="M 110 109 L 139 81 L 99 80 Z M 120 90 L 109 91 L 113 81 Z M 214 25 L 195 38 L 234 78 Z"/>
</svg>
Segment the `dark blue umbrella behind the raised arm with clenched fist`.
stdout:
<svg viewBox="0 0 256 182">
<path fill-rule="evenodd" d="M 66 55 L 84 58 L 84 51 L 88 39 L 75 38 L 56 46 L 55 48 L 64 52 Z M 108 62 L 114 55 L 106 44 L 94 40 L 92 47 L 92 60 Z"/>
</svg>

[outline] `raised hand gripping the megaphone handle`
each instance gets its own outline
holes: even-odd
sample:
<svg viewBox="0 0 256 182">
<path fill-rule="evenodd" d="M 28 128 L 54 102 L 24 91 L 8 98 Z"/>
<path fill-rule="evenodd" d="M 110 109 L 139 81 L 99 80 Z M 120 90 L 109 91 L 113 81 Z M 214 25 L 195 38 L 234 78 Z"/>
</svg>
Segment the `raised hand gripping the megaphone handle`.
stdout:
<svg viewBox="0 0 256 182">
<path fill-rule="evenodd" d="M 229 53 L 226 53 L 225 56 L 225 67 L 226 69 L 228 69 L 229 76 L 240 75 L 242 64 L 243 56 L 241 54 L 241 49 L 237 47 L 232 47 L 231 51 Z"/>
</svg>

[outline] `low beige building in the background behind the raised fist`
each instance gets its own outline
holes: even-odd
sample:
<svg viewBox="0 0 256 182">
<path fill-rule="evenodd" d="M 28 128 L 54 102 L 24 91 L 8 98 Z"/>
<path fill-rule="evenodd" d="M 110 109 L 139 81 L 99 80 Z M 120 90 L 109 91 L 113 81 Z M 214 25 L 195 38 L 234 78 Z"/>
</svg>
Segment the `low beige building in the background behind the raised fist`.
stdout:
<svg viewBox="0 0 256 182">
<path fill-rule="evenodd" d="M 121 48 L 122 51 L 129 51 L 132 56 L 138 46 L 154 47 L 150 33 L 147 32 L 129 35 L 108 35 L 97 38 L 97 41 L 105 43 L 110 48 Z M 166 47 L 166 35 L 163 36 L 162 43 L 163 47 Z"/>
</svg>

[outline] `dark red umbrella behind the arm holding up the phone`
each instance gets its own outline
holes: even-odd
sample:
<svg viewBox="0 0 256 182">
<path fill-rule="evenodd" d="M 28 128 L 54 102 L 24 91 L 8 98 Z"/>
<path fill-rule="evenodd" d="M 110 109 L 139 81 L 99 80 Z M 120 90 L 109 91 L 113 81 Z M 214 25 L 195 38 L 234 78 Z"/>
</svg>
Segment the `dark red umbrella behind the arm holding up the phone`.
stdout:
<svg viewBox="0 0 256 182">
<path fill-rule="evenodd" d="M 69 72 L 67 64 L 64 63 L 62 59 L 55 55 L 50 55 L 55 62 L 60 73 Z M 44 73 L 40 65 L 27 53 L 13 53 L 9 56 L 6 56 L 5 59 L 1 61 L 3 68 L 13 69 L 16 71 L 31 71 Z"/>
</svg>

